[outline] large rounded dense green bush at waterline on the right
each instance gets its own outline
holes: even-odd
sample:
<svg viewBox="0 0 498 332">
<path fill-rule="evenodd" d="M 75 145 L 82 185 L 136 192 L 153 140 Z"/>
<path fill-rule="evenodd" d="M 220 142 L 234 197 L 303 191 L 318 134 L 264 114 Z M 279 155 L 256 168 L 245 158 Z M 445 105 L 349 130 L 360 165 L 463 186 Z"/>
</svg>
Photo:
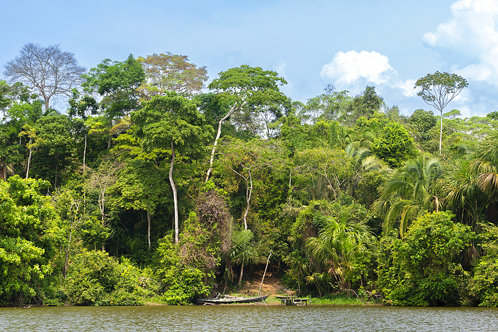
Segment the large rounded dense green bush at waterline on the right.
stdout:
<svg viewBox="0 0 498 332">
<path fill-rule="evenodd" d="M 447 212 L 426 214 L 403 239 L 385 237 L 378 252 L 378 288 L 394 305 L 460 304 L 461 271 L 456 257 L 473 239 L 471 227 Z"/>
</svg>

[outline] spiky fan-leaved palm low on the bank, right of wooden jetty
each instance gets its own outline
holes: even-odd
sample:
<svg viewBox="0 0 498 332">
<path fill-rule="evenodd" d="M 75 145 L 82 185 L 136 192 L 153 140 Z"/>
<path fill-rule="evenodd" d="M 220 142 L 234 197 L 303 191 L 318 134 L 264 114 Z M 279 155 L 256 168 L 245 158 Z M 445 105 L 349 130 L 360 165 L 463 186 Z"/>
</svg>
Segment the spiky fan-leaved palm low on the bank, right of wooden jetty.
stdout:
<svg viewBox="0 0 498 332">
<path fill-rule="evenodd" d="M 333 276 L 342 290 L 351 289 L 355 260 L 373 243 L 373 234 L 364 221 L 351 221 L 343 212 L 340 217 L 326 217 L 318 237 L 306 240 L 306 248 L 327 273 Z M 308 282 L 317 275 L 312 274 Z M 316 279 L 316 278 L 315 278 Z"/>
</svg>

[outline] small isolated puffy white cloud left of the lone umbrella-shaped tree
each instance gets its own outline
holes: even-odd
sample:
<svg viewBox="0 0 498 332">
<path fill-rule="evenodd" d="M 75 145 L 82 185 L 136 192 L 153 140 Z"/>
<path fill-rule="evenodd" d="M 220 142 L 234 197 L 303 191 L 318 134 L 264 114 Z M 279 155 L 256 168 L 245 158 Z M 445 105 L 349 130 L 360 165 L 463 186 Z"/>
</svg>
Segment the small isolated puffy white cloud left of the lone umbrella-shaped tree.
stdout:
<svg viewBox="0 0 498 332">
<path fill-rule="evenodd" d="M 373 83 L 376 87 L 399 88 L 406 97 L 416 96 L 415 80 L 399 80 L 398 73 L 389 65 L 389 59 L 375 51 L 337 52 L 334 59 L 322 67 L 320 77 L 335 80 L 338 88 Z"/>
</svg>

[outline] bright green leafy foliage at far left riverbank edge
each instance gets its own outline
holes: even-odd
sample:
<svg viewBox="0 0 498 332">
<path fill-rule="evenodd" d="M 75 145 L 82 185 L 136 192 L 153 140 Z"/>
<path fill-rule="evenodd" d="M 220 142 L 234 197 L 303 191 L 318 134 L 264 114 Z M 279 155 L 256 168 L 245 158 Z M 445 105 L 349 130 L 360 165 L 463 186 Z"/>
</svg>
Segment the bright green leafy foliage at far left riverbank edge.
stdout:
<svg viewBox="0 0 498 332">
<path fill-rule="evenodd" d="M 46 186 L 17 175 L 0 182 L 0 304 L 39 295 L 52 273 L 60 229 L 49 199 L 39 194 Z"/>
</svg>

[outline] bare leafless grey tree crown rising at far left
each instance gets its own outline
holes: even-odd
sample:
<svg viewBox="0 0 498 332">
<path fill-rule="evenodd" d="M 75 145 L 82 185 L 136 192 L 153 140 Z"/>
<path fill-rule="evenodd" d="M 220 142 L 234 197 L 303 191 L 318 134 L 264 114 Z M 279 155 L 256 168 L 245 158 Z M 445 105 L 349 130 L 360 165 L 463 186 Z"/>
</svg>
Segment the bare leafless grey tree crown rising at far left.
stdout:
<svg viewBox="0 0 498 332">
<path fill-rule="evenodd" d="M 86 68 L 79 66 L 74 53 L 64 52 L 59 45 L 27 43 L 20 55 L 7 62 L 3 75 L 11 82 L 22 82 L 43 98 L 45 111 L 52 97 L 71 96 L 71 89 L 79 86 Z"/>
</svg>

